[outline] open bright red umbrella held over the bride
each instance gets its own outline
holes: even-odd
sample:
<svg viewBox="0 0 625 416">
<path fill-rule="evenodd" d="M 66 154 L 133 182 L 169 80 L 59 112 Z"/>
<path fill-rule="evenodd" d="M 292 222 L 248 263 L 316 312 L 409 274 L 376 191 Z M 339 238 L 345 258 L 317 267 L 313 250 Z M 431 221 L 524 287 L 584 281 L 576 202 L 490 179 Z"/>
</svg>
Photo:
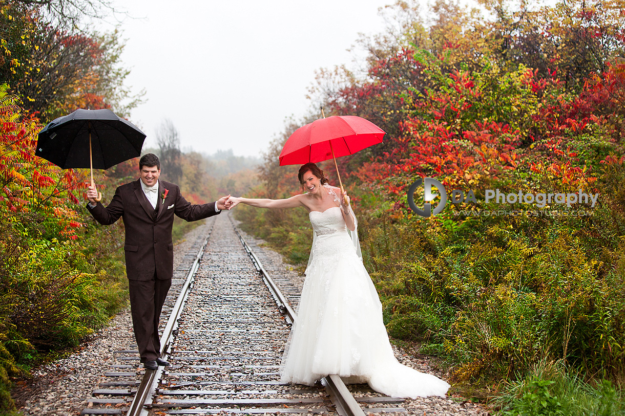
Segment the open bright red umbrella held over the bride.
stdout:
<svg viewBox="0 0 625 416">
<path fill-rule="evenodd" d="M 322 110 L 323 112 L 323 110 Z M 280 166 L 334 159 L 341 192 L 344 191 L 336 157 L 347 156 L 381 143 L 386 134 L 371 121 L 357 116 L 331 116 L 299 127 L 280 153 Z"/>
</svg>

